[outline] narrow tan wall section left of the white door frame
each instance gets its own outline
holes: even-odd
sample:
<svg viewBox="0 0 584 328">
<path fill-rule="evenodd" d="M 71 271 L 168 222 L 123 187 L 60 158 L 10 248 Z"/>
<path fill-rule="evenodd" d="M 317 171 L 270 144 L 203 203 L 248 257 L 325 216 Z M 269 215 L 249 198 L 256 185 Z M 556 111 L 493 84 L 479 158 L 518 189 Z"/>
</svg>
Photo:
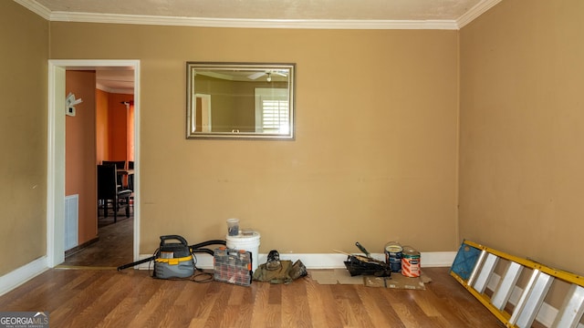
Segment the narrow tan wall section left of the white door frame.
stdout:
<svg viewBox="0 0 584 328">
<path fill-rule="evenodd" d="M 47 253 L 48 23 L 0 1 L 0 276 Z"/>
</svg>

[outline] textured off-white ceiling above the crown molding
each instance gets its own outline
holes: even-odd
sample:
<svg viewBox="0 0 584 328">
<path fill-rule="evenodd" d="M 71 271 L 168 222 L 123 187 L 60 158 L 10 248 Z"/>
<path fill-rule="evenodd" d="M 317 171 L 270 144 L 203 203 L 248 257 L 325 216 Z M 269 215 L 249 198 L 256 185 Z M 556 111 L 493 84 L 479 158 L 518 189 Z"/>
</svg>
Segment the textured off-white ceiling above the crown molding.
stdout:
<svg viewBox="0 0 584 328">
<path fill-rule="evenodd" d="M 62 13 L 294 20 L 456 20 L 481 2 L 485 0 L 36 0 Z"/>
</svg>

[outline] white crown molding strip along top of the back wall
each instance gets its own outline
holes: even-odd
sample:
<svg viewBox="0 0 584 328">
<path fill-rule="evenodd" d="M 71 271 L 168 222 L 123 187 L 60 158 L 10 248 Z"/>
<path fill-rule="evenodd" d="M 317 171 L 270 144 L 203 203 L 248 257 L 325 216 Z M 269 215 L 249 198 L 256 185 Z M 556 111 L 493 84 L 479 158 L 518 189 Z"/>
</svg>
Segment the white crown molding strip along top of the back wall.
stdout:
<svg viewBox="0 0 584 328">
<path fill-rule="evenodd" d="M 22 0 L 21 0 L 22 1 Z M 245 19 L 155 15 L 104 15 L 52 12 L 54 22 L 136 24 L 154 26 L 198 26 L 239 28 L 313 29 L 458 29 L 454 20 L 336 20 L 336 19 Z"/>
</svg>

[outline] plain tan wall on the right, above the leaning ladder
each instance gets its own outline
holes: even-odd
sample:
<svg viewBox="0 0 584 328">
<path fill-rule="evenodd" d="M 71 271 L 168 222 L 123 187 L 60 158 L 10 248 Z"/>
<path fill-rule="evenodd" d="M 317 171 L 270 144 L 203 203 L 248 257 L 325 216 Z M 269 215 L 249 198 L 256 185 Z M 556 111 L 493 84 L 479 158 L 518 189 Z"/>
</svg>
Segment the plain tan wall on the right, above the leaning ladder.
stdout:
<svg viewBox="0 0 584 328">
<path fill-rule="evenodd" d="M 584 272 L 584 2 L 503 1 L 460 33 L 460 236 Z"/>
</svg>

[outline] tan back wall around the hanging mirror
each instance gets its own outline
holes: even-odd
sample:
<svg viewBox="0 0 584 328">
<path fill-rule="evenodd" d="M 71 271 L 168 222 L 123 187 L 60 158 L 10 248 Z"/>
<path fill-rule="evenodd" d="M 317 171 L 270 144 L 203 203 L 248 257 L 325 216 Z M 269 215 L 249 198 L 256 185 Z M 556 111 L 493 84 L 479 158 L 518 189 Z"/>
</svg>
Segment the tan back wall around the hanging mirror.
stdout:
<svg viewBox="0 0 584 328">
<path fill-rule="evenodd" d="M 262 252 L 392 240 L 454 251 L 457 42 L 457 31 L 51 23 L 52 58 L 141 60 L 141 253 L 163 234 L 222 238 L 231 217 L 260 231 Z M 297 63 L 297 139 L 186 140 L 186 61 Z"/>
</svg>

